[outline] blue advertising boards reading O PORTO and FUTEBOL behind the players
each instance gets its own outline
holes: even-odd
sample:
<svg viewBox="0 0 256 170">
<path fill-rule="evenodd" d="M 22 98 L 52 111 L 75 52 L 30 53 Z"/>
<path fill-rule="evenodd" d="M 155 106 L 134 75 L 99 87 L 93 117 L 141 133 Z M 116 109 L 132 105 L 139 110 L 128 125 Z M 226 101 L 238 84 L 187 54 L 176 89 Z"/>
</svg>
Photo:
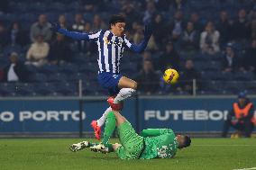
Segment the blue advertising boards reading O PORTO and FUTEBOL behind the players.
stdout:
<svg viewBox="0 0 256 170">
<path fill-rule="evenodd" d="M 176 131 L 221 131 L 234 98 L 141 98 L 139 115 L 136 100 L 125 102 L 122 114 L 133 126 L 171 128 Z M 256 99 L 251 100 L 256 103 Z M 78 100 L 0 101 L 1 132 L 78 132 Z M 105 101 L 83 103 L 83 130 L 92 131 L 90 122 L 101 117 Z M 136 119 L 139 119 L 136 121 Z"/>
</svg>

